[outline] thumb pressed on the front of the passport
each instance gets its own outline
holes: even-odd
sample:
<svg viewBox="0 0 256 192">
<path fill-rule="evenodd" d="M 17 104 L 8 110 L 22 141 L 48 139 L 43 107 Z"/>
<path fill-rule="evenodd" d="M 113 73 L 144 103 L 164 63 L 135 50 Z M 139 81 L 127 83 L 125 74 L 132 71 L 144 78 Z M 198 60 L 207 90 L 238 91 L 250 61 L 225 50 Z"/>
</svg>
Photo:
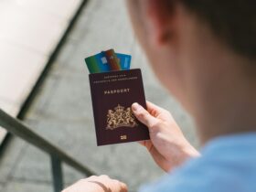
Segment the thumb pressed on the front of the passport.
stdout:
<svg viewBox="0 0 256 192">
<path fill-rule="evenodd" d="M 152 126 L 158 122 L 158 120 L 154 116 L 147 112 L 144 107 L 137 102 L 133 103 L 132 110 L 135 117 L 141 123 L 144 123 L 148 128 L 152 128 Z"/>
</svg>

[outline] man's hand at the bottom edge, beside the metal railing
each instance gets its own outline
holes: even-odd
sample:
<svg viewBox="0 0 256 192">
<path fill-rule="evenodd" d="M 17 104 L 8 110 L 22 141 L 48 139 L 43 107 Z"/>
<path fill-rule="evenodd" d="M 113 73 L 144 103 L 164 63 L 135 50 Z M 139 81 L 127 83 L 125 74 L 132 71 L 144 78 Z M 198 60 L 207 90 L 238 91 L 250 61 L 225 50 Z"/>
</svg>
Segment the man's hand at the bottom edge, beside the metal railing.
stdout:
<svg viewBox="0 0 256 192">
<path fill-rule="evenodd" d="M 90 176 L 81 179 L 62 192 L 127 192 L 126 185 L 109 176 Z"/>
</svg>

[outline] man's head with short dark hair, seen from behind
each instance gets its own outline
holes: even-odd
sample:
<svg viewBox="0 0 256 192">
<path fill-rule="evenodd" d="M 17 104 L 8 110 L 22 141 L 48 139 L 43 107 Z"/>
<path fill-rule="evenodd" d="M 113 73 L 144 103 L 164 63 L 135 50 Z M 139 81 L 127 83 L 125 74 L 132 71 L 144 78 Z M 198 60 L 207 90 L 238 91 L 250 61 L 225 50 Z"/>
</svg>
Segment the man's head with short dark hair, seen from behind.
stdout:
<svg viewBox="0 0 256 192">
<path fill-rule="evenodd" d="M 243 92 L 246 86 L 248 90 L 256 86 L 254 0 L 127 0 L 127 4 L 157 77 L 194 117 L 201 118 L 204 111 L 224 112 L 229 107 L 222 102 L 245 96 L 234 85 Z"/>
</svg>

